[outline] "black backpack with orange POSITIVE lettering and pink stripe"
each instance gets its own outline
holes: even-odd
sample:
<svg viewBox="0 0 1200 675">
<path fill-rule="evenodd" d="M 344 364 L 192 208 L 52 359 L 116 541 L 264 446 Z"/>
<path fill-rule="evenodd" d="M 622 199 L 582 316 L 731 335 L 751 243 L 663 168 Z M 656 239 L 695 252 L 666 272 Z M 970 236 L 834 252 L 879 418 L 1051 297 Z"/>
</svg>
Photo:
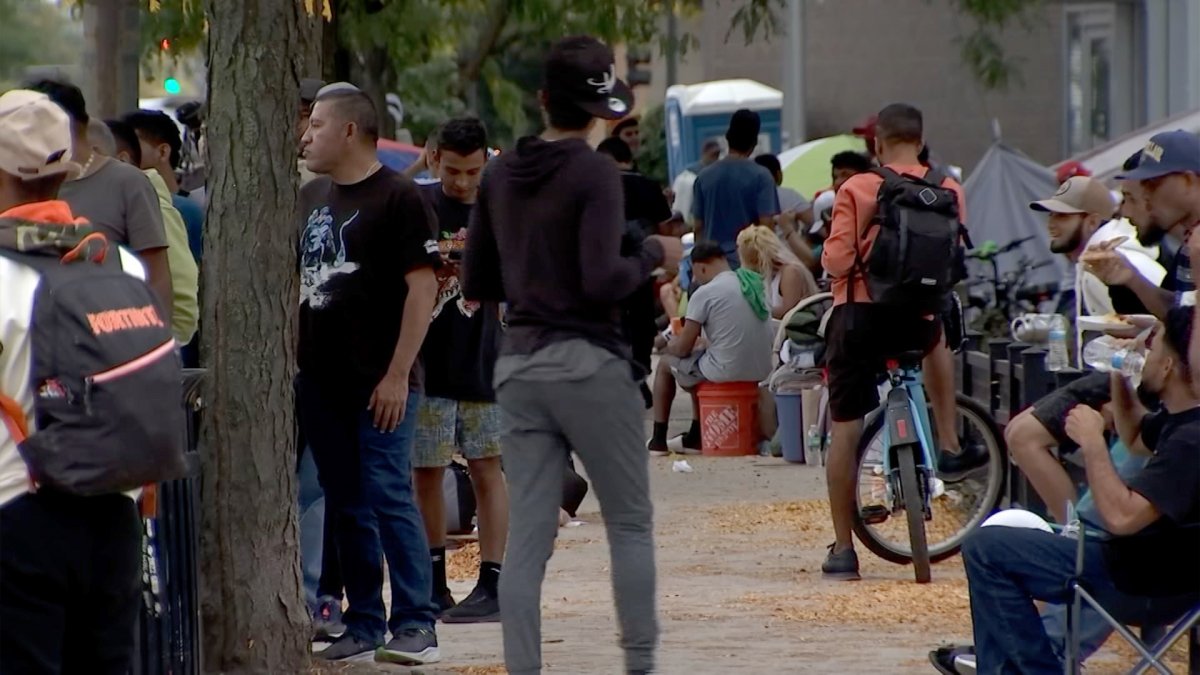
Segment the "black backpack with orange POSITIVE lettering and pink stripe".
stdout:
<svg viewBox="0 0 1200 675">
<path fill-rule="evenodd" d="M 30 478 L 83 496 L 182 478 L 182 370 L 154 293 L 119 265 L 49 252 L 0 246 L 41 276 L 30 328 L 35 428 L 16 438 Z"/>
</svg>

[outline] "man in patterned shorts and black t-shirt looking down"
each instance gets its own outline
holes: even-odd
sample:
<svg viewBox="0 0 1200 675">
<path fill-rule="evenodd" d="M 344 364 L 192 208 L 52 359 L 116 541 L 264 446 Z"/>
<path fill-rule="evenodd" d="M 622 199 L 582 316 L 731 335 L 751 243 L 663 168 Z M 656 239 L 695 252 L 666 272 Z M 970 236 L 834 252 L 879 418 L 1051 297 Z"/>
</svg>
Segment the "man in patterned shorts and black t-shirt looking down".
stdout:
<svg viewBox="0 0 1200 675">
<path fill-rule="evenodd" d="M 416 423 L 413 478 L 433 562 L 433 599 L 446 623 L 500 620 L 499 580 L 509 532 L 509 498 L 500 471 L 500 408 L 492 374 L 500 339 L 497 303 L 470 303 L 458 286 L 458 261 L 470 210 L 487 161 L 487 131 L 475 118 L 452 119 L 438 132 L 431 168 L 439 183 L 421 186 L 438 215 L 437 239 L 445 265 L 438 301 L 421 347 L 425 399 Z M 454 453 L 470 468 L 479 513 L 479 584 L 455 605 L 446 587 L 445 496 L 442 480 Z"/>
</svg>

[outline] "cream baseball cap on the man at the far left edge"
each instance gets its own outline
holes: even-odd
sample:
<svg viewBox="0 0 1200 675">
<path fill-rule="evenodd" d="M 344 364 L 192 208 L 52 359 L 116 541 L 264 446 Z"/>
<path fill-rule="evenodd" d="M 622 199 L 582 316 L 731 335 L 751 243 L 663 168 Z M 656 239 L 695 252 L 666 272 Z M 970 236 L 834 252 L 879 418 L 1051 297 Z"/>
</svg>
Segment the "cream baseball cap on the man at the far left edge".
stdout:
<svg viewBox="0 0 1200 675">
<path fill-rule="evenodd" d="M 78 178 L 71 145 L 71 118 L 49 96 L 25 89 L 0 96 L 0 171 L 22 180 Z"/>
</svg>

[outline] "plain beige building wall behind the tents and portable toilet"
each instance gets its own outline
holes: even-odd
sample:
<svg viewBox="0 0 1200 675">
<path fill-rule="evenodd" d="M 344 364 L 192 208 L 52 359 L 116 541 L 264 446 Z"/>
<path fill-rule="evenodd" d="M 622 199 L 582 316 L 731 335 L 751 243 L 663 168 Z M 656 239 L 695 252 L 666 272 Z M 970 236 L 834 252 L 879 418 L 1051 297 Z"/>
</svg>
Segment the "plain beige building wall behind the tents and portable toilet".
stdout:
<svg viewBox="0 0 1200 675">
<path fill-rule="evenodd" d="M 731 0 L 706 0 L 704 12 L 680 22 L 700 48 L 679 66 L 679 82 L 750 77 L 772 86 L 784 78 L 784 37 L 744 44 L 739 31 L 724 42 L 736 11 Z M 970 169 L 991 144 L 991 119 L 1006 143 L 1034 160 L 1058 161 L 1062 151 L 1062 8 L 1048 2 L 1032 30 L 1003 36 L 1021 59 L 1021 80 L 1008 91 L 984 94 L 959 55 L 956 38 L 970 20 L 950 0 L 806 0 L 805 117 L 809 137 L 846 132 L 894 101 L 925 112 L 926 137 L 946 161 Z M 665 65 L 655 64 L 643 104 L 661 102 Z"/>
</svg>

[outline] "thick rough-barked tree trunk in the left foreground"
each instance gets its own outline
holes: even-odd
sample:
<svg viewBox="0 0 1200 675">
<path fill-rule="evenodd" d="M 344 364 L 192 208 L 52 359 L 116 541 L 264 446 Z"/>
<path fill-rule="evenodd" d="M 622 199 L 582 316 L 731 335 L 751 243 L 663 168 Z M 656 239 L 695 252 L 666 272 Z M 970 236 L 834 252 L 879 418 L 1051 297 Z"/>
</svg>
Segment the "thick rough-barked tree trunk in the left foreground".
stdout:
<svg viewBox="0 0 1200 675">
<path fill-rule="evenodd" d="M 209 673 L 299 673 L 295 120 L 319 18 L 301 0 L 205 0 L 209 22 L 202 617 Z"/>
</svg>

